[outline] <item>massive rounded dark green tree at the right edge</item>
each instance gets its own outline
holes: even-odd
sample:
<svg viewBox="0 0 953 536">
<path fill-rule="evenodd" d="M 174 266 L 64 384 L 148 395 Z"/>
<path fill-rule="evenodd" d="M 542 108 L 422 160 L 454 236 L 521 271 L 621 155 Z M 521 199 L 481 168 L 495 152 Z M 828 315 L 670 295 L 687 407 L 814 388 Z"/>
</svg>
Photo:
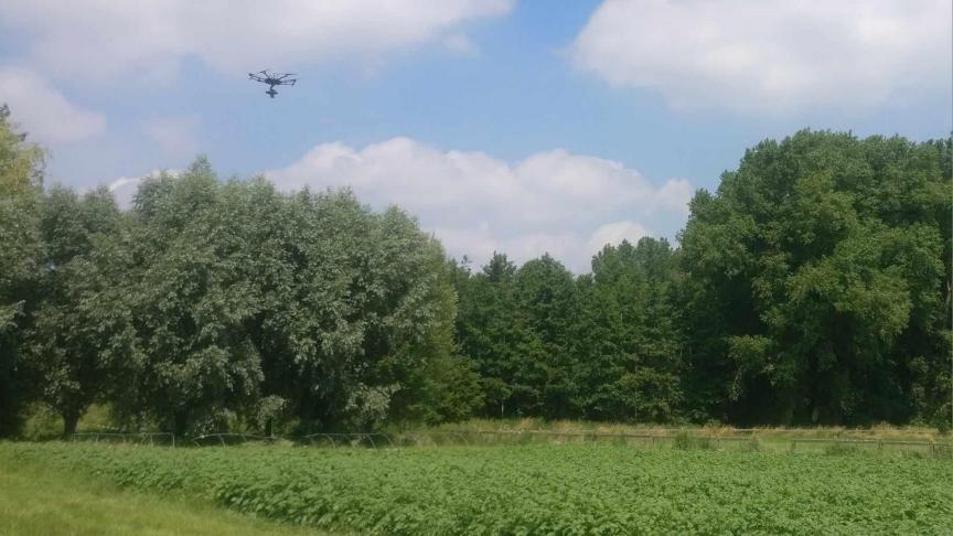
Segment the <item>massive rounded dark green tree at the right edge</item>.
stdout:
<svg viewBox="0 0 953 536">
<path fill-rule="evenodd" d="M 802 131 L 696 194 L 682 243 L 702 404 L 736 422 L 912 417 L 912 378 L 949 349 L 942 147 Z"/>
</svg>

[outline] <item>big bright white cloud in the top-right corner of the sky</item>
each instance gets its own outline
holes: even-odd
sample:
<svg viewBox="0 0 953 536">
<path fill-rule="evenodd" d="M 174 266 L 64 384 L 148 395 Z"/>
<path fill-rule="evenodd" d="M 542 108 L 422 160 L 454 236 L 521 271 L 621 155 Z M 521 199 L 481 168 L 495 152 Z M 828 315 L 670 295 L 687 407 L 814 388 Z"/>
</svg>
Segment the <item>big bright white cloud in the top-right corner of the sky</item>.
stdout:
<svg viewBox="0 0 953 536">
<path fill-rule="evenodd" d="M 949 0 L 607 0 L 574 64 L 676 108 L 780 115 L 951 90 Z"/>
</svg>

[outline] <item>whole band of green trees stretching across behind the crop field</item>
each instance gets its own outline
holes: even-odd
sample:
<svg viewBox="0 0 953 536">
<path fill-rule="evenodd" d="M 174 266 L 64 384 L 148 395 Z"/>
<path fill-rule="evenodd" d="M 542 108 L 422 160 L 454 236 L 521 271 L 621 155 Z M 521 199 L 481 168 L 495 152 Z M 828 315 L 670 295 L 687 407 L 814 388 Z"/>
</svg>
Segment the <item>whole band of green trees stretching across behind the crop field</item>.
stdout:
<svg viewBox="0 0 953 536">
<path fill-rule="evenodd" d="M 951 139 L 801 131 L 698 191 L 678 245 L 574 275 L 449 259 L 349 191 L 221 180 L 197 159 L 105 190 L 43 183 L 0 111 L 0 435 L 264 433 L 535 416 L 951 421 Z M 237 425 L 236 425 L 237 424 Z"/>
</svg>

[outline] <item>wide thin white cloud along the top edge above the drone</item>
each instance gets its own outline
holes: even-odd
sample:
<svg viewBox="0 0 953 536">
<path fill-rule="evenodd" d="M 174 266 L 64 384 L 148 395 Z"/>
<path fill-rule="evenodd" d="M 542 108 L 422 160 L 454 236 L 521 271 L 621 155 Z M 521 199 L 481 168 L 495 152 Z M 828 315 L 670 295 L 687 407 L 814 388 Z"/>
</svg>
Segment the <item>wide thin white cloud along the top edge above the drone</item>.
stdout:
<svg viewBox="0 0 953 536">
<path fill-rule="evenodd" d="M 469 21 L 507 13 L 512 1 L 6 0 L 0 26 L 22 34 L 31 60 L 63 76 L 164 77 L 188 56 L 244 74 L 440 41 Z"/>
</svg>

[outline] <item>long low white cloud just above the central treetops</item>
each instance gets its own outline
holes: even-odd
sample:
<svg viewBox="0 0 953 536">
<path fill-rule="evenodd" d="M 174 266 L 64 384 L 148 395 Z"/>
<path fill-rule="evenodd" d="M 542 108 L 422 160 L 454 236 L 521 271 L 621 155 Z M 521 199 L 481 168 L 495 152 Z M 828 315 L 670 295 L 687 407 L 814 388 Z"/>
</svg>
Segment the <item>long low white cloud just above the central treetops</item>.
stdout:
<svg viewBox="0 0 953 536">
<path fill-rule="evenodd" d="M 525 261 L 548 251 L 577 271 L 606 243 L 645 236 L 639 221 L 673 237 L 693 193 L 685 180 L 658 187 L 619 162 L 561 149 L 508 163 L 408 138 L 320 144 L 266 174 L 282 190 L 351 186 L 374 206 L 397 204 L 457 257 L 483 262 L 499 250 Z"/>
</svg>

